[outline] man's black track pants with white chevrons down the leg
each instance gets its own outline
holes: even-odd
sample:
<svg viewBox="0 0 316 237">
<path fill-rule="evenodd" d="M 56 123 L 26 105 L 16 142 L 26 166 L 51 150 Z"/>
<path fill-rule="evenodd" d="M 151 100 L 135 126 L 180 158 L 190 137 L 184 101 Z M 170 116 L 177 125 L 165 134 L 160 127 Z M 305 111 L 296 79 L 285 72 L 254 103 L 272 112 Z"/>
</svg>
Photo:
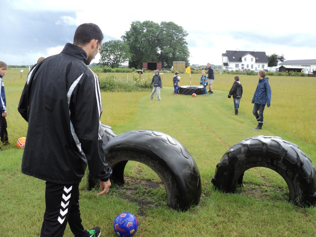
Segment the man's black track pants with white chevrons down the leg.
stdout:
<svg viewBox="0 0 316 237">
<path fill-rule="evenodd" d="M 75 237 L 89 236 L 81 224 L 78 200 L 79 184 L 63 185 L 46 181 L 46 210 L 40 236 L 63 236 L 67 222 Z"/>
</svg>

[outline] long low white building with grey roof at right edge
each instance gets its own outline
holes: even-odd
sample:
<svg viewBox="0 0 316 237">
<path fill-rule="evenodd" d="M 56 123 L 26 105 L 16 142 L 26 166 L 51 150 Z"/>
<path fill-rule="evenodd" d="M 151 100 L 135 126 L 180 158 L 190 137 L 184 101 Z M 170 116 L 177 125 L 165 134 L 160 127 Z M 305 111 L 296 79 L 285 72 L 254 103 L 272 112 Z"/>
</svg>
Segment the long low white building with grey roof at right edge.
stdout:
<svg viewBox="0 0 316 237">
<path fill-rule="evenodd" d="M 287 71 L 300 71 L 303 70 L 304 73 L 310 74 L 316 71 L 316 59 L 302 59 L 302 60 L 286 60 L 279 63 L 280 70 Z M 296 69 L 296 70 L 295 70 Z"/>
</svg>

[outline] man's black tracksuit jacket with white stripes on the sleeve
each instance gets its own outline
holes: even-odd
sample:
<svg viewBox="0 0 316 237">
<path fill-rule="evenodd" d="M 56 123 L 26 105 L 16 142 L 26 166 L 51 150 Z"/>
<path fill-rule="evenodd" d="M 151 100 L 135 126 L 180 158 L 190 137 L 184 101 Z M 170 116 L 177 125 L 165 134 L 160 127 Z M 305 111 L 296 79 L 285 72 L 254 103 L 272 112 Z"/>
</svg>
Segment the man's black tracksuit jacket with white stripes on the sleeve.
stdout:
<svg viewBox="0 0 316 237">
<path fill-rule="evenodd" d="M 67 43 L 61 53 L 35 64 L 29 72 L 18 106 L 28 122 L 22 173 L 76 184 L 88 164 L 92 176 L 109 179 L 112 169 L 99 136 L 99 78 L 86 60 L 82 48 Z"/>
</svg>

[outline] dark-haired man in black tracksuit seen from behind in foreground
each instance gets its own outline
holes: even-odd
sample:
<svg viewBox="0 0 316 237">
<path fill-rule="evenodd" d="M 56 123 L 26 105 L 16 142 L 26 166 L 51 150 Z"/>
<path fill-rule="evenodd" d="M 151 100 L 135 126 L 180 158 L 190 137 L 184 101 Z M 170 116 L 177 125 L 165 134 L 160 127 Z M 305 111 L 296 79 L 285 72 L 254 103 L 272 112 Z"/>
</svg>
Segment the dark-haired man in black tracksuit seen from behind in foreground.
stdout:
<svg viewBox="0 0 316 237">
<path fill-rule="evenodd" d="M 80 25 L 74 43 L 35 64 L 27 76 L 18 110 L 28 122 L 22 173 L 46 180 L 46 210 L 40 236 L 63 236 L 67 222 L 75 236 L 100 236 L 85 230 L 79 210 L 79 183 L 87 164 L 108 192 L 112 170 L 99 136 L 102 102 L 99 78 L 86 65 L 98 53 L 103 33 L 93 23 Z"/>
</svg>

